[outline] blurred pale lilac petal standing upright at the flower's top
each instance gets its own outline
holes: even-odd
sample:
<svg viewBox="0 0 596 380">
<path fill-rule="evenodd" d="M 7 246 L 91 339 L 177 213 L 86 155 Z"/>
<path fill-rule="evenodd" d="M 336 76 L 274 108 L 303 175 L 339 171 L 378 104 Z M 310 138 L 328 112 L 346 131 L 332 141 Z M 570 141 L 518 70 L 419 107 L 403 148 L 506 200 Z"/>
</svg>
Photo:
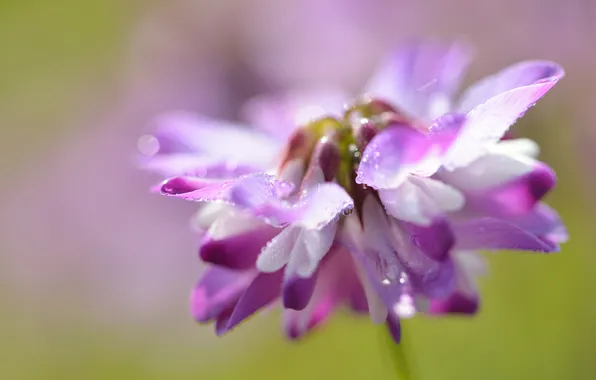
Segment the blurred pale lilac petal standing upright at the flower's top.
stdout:
<svg viewBox="0 0 596 380">
<path fill-rule="evenodd" d="M 469 48 L 463 44 L 411 44 L 382 63 L 366 92 L 432 120 L 449 111 L 469 61 Z"/>
</svg>

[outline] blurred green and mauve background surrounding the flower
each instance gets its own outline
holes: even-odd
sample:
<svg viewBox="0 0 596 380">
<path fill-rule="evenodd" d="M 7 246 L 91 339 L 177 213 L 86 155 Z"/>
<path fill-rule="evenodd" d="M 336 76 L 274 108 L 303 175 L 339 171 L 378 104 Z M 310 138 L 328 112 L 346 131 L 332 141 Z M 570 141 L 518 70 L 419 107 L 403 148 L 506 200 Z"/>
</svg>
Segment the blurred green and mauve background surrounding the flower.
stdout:
<svg viewBox="0 0 596 380">
<path fill-rule="evenodd" d="M 243 37 L 262 14 L 300 6 L 281 3 L 0 1 L 0 379 L 396 378 L 382 330 L 347 314 L 298 344 L 284 340 L 278 311 L 223 338 L 196 326 L 187 313 L 200 269 L 186 230 L 192 210 L 153 199 L 131 168 L 135 140 L 159 111 L 234 117 L 252 93 L 300 83 L 264 80 L 247 53 L 262 36 Z M 488 255 L 474 318 L 405 321 L 414 379 L 593 379 L 595 7 L 398 3 L 397 21 L 369 36 L 385 47 L 363 51 L 369 61 L 346 74 L 354 83 L 410 36 L 470 39 L 472 78 L 526 58 L 568 72 L 516 133 L 536 139 L 558 173 L 548 201 L 570 242 L 550 256 Z M 322 12 L 312 4 L 306 14 Z M 388 5 L 365 5 L 374 7 Z M 270 45 L 263 51 L 276 54 Z M 344 53 L 334 52 L 338 62 Z"/>
</svg>

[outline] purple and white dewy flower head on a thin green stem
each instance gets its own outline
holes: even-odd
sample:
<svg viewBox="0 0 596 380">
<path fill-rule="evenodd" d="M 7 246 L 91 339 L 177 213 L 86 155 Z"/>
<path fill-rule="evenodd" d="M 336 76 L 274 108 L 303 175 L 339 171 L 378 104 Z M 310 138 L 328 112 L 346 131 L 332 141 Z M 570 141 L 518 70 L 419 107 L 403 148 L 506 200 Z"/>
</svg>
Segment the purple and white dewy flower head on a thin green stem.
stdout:
<svg viewBox="0 0 596 380">
<path fill-rule="evenodd" d="M 254 104 L 257 129 L 158 118 L 143 164 L 170 177 L 161 194 L 200 205 L 196 320 L 223 334 L 281 300 L 297 338 L 348 306 L 399 341 L 401 318 L 476 312 L 477 250 L 557 251 L 567 233 L 541 202 L 555 174 L 535 143 L 502 138 L 563 70 L 520 63 L 455 102 L 467 57 L 410 46 L 366 96 L 326 97 L 298 125 L 305 108 L 280 99 Z"/>
</svg>

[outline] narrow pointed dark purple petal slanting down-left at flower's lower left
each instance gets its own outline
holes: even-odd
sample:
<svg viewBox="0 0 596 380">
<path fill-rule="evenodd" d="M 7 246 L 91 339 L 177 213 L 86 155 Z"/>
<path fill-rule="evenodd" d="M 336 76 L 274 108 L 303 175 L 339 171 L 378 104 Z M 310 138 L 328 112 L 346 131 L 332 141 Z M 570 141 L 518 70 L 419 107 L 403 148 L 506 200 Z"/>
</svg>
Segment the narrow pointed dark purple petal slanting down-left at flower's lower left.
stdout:
<svg viewBox="0 0 596 380">
<path fill-rule="evenodd" d="M 281 271 L 259 273 L 242 294 L 229 318 L 222 321 L 225 323 L 216 326 L 217 334 L 228 332 L 259 309 L 275 301 L 279 297 L 282 280 Z"/>
</svg>

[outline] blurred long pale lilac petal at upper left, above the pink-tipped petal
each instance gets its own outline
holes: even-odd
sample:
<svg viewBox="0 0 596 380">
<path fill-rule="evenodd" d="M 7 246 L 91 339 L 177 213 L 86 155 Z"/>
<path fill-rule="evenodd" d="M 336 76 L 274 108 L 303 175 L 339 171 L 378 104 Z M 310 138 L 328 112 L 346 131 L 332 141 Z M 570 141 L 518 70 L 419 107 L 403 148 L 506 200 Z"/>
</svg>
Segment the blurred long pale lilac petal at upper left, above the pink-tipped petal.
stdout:
<svg viewBox="0 0 596 380">
<path fill-rule="evenodd" d="M 264 169 L 280 148 L 275 140 L 257 131 L 187 112 L 162 115 L 155 124 L 158 155 L 193 153 Z"/>
</svg>

